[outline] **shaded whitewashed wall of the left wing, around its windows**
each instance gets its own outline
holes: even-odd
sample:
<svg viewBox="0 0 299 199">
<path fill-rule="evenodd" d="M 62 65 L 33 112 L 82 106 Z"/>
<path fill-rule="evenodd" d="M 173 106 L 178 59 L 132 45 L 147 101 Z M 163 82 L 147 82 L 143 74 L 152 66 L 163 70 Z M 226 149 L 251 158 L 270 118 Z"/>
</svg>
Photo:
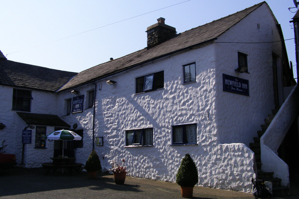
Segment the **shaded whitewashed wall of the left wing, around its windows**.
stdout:
<svg viewBox="0 0 299 199">
<path fill-rule="evenodd" d="M 16 161 L 20 164 L 22 159 L 22 130 L 27 124 L 21 120 L 15 110 L 12 110 L 13 87 L 1 86 L 0 88 L 0 122 L 5 124 L 4 129 L 0 130 L 0 144 L 2 140 L 5 140 L 4 145 L 7 145 L 4 149 L 5 152 L 15 154 Z M 31 96 L 33 98 L 33 100 L 31 100 L 31 113 L 55 114 L 57 104 L 55 93 L 31 90 Z M 41 162 L 45 162 L 44 157 L 46 157 L 45 154 L 48 153 L 47 149 L 34 148 L 35 129 L 31 130 L 31 144 L 25 144 L 25 165 L 22 165 L 29 168 L 39 167 Z M 51 132 L 51 130 L 51 127 L 47 127 L 47 132 Z"/>
</svg>

